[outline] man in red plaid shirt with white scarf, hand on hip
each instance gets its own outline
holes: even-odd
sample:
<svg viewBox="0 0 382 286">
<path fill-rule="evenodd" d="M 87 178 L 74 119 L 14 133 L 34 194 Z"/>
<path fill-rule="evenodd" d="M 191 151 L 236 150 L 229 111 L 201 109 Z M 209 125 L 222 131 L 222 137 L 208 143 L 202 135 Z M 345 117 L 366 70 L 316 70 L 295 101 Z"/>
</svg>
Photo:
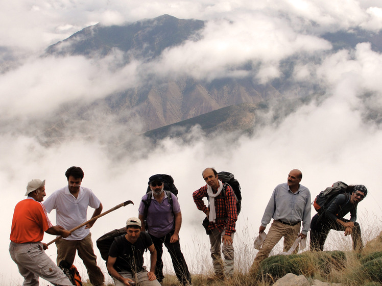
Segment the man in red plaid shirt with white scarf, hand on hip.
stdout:
<svg viewBox="0 0 382 286">
<path fill-rule="evenodd" d="M 232 188 L 218 179 L 218 173 L 213 168 L 206 168 L 203 178 L 207 185 L 193 193 L 198 210 L 208 218 L 209 241 L 211 243 L 211 257 L 215 276 L 212 279 L 224 280 L 232 277 L 234 266 L 233 235 L 237 220 L 236 198 Z M 203 198 L 208 199 L 208 207 Z M 224 256 L 224 269 L 221 255 Z"/>
</svg>

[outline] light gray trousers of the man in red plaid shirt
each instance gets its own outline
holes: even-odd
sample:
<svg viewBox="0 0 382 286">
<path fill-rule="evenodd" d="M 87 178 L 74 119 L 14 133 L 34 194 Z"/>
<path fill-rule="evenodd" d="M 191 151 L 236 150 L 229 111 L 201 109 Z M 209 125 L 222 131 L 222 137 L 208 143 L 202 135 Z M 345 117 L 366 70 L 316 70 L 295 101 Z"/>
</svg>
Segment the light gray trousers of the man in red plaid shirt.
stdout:
<svg viewBox="0 0 382 286">
<path fill-rule="evenodd" d="M 215 228 L 209 235 L 209 242 L 211 243 L 211 257 L 212 257 L 212 265 L 213 271 L 217 275 L 224 275 L 227 277 L 231 277 L 233 275 L 233 267 L 234 267 L 234 250 L 233 245 L 222 245 L 222 238 L 225 235 L 225 231 L 220 231 Z M 231 234 L 231 238 L 233 240 L 234 233 Z M 222 245 L 222 247 L 221 247 Z M 222 261 L 222 253 L 224 257 L 224 263 Z"/>
</svg>

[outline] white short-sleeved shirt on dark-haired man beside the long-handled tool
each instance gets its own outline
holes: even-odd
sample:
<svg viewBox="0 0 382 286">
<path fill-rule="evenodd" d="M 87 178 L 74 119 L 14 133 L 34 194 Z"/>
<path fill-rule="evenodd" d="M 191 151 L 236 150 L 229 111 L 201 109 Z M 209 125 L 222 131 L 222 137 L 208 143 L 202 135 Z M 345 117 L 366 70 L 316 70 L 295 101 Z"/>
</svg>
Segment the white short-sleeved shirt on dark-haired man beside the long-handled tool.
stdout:
<svg viewBox="0 0 382 286">
<path fill-rule="evenodd" d="M 86 222 L 87 207 L 98 209 L 101 201 L 93 192 L 84 187 L 80 187 L 78 197 L 70 194 L 68 186 L 55 191 L 43 202 L 46 212 L 50 213 L 56 210 L 57 225 L 65 229 L 73 229 L 76 226 Z M 89 235 L 90 230 L 85 226 L 73 231 L 66 240 L 82 240 Z"/>
</svg>

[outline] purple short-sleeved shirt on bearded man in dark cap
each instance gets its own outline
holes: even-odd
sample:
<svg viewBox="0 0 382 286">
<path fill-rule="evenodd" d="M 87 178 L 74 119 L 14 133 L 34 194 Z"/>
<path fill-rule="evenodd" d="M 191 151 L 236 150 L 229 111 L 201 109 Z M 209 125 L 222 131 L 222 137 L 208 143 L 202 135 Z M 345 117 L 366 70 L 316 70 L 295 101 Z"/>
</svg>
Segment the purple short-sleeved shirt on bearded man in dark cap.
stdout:
<svg viewBox="0 0 382 286">
<path fill-rule="evenodd" d="M 142 200 L 147 200 L 147 194 L 142 197 Z M 180 212 L 180 205 L 177 197 L 171 193 L 173 199 L 173 208 L 164 192 L 163 200 L 159 203 L 154 196 L 151 198 L 151 203 L 147 212 L 147 225 L 150 235 L 161 238 L 167 235 L 170 231 L 175 229 L 174 214 Z M 143 216 L 145 213 L 145 203 L 140 202 L 138 214 Z"/>
</svg>

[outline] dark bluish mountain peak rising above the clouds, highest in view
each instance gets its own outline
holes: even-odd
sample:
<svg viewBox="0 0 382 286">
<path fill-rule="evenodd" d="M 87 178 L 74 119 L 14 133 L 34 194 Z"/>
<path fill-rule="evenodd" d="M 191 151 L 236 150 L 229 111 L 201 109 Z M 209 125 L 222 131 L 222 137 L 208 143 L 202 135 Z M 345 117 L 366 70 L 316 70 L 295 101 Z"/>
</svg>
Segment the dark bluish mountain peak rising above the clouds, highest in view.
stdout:
<svg viewBox="0 0 382 286">
<path fill-rule="evenodd" d="M 46 49 L 47 55 L 67 56 L 99 54 L 106 56 L 113 48 L 136 59 L 152 60 L 165 48 L 180 45 L 204 27 L 204 21 L 178 19 L 164 14 L 124 25 L 98 23 Z"/>
</svg>

